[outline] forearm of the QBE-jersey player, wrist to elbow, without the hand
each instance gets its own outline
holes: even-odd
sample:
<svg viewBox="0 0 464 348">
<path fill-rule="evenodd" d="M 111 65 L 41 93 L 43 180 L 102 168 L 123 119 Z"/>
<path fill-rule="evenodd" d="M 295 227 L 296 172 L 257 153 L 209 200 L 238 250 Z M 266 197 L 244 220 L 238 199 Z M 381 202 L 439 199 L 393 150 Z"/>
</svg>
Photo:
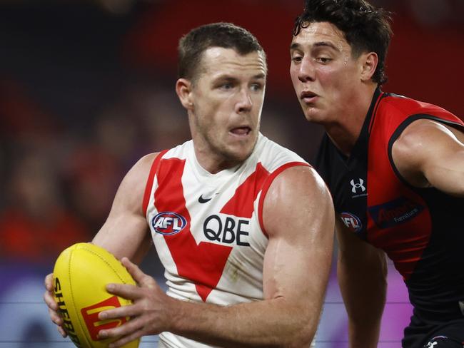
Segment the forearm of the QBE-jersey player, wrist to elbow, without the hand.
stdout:
<svg viewBox="0 0 464 348">
<path fill-rule="evenodd" d="M 307 299 L 307 302 L 311 300 Z M 171 332 L 221 347 L 308 347 L 321 308 L 283 298 L 227 307 L 180 302 Z"/>
</svg>

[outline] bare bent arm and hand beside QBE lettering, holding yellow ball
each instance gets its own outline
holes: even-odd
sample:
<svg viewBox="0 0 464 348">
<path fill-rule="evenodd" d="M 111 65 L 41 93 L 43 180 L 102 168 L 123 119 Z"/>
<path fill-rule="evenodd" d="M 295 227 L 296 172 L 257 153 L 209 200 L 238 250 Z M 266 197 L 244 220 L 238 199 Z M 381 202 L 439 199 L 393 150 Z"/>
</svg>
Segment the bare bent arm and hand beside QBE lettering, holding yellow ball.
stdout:
<svg viewBox="0 0 464 348">
<path fill-rule="evenodd" d="M 131 316 L 101 337 L 136 337 L 170 331 L 221 347 L 308 347 L 316 332 L 331 267 L 334 216 L 323 180 L 308 167 L 284 170 L 263 204 L 269 237 L 263 269 L 265 299 L 217 306 L 168 297 L 153 278 L 124 260 L 139 287 L 109 290 L 134 305 L 101 312 L 100 319 Z"/>
</svg>

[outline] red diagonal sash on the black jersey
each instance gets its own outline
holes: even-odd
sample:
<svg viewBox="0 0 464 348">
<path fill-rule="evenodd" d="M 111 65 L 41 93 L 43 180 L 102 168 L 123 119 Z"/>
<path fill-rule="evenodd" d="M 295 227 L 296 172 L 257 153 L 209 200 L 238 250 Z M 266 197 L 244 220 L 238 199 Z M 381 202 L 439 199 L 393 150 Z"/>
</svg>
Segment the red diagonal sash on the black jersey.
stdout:
<svg viewBox="0 0 464 348">
<path fill-rule="evenodd" d="M 388 103 L 395 109 L 385 108 L 385 103 L 378 108 L 376 106 L 377 110 L 374 114 L 376 121 L 369 135 L 367 208 L 388 206 L 388 203 L 402 198 L 408 200 L 413 206 L 423 207 L 423 210 L 410 220 L 395 223 L 390 227 L 382 227 L 377 225 L 378 222 L 374 220 L 368 209 L 367 240 L 373 246 L 385 251 L 393 260 L 395 268 L 403 279 L 408 280 L 430 242 L 432 218 L 425 200 L 398 179 L 393 170 L 393 163 L 390 163 L 388 157 L 388 139 L 404 121 L 406 112 L 418 111 L 418 104 L 406 98 L 390 97 L 388 97 Z M 386 114 L 387 111 L 388 114 Z M 400 211 L 403 209 L 398 208 Z M 394 210 L 394 208 L 390 209 Z"/>
</svg>

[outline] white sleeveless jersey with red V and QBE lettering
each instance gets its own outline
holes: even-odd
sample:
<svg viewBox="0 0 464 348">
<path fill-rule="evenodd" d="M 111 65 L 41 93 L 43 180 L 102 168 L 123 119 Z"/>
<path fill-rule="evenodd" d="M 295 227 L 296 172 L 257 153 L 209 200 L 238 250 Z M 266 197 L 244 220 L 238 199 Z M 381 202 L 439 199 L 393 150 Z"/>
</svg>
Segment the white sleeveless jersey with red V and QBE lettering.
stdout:
<svg viewBox="0 0 464 348">
<path fill-rule="evenodd" d="M 198 164 L 192 140 L 158 155 L 143 208 L 169 296 L 216 305 L 263 299 L 263 200 L 294 165 L 308 163 L 262 134 L 244 163 L 216 174 Z M 211 346 L 163 332 L 158 347 Z"/>
</svg>

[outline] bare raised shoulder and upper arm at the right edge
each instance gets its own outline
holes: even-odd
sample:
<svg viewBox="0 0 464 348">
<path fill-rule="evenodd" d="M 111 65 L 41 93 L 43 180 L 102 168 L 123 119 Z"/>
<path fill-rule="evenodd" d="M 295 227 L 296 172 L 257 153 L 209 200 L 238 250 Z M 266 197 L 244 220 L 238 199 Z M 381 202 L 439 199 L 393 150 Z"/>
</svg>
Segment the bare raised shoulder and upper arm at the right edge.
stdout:
<svg viewBox="0 0 464 348">
<path fill-rule="evenodd" d="M 421 119 L 405 128 L 392 148 L 393 162 L 408 183 L 464 197 L 464 133 Z"/>
</svg>

